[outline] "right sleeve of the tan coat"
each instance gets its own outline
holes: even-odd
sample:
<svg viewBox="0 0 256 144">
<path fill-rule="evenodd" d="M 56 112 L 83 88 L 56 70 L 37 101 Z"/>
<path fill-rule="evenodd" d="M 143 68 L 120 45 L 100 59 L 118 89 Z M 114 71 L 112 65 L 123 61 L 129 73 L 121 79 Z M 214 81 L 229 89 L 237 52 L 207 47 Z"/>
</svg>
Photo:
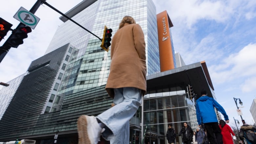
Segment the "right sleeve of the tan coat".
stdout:
<svg viewBox="0 0 256 144">
<path fill-rule="evenodd" d="M 144 39 L 144 33 L 139 24 L 136 24 L 133 28 L 133 38 L 135 49 L 139 54 L 139 58 L 146 60 L 146 44 Z"/>
</svg>

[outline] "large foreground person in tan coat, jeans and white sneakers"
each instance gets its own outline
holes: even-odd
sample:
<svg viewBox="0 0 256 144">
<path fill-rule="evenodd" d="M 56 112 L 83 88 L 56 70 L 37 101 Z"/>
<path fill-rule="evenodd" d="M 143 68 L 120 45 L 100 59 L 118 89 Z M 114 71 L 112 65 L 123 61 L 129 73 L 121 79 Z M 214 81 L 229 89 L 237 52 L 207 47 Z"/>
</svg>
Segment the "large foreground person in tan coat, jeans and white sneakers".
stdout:
<svg viewBox="0 0 256 144">
<path fill-rule="evenodd" d="M 100 135 L 111 144 L 129 143 L 129 120 L 146 94 L 144 34 L 131 16 L 119 24 L 111 44 L 111 65 L 106 91 L 115 106 L 98 116 L 77 120 L 78 144 L 97 144 Z"/>
</svg>

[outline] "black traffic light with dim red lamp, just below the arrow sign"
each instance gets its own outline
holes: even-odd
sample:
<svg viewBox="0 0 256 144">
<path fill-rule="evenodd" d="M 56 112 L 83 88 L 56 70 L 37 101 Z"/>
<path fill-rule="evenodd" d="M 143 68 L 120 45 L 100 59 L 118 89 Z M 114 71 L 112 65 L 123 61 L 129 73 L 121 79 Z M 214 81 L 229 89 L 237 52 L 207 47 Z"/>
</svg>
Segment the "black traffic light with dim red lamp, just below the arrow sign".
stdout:
<svg viewBox="0 0 256 144">
<path fill-rule="evenodd" d="M 19 45 L 23 44 L 23 39 L 27 38 L 28 33 L 30 33 L 31 31 L 32 30 L 30 27 L 22 24 L 13 31 L 11 37 L 8 39 L 8 45 L 13 48 L 17 48 Z"/>
</svg>

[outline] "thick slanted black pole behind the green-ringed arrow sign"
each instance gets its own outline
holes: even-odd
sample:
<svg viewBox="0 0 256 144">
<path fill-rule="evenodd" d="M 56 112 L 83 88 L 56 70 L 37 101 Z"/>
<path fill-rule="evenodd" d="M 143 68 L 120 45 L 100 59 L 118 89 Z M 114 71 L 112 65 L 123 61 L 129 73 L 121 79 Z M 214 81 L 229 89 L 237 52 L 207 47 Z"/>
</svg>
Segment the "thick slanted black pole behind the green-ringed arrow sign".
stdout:
<svg viewBox="0 0 256 144">
<path fill-rule="evenodd" d="M 46 1 L 46 0 L 44 0 Z M 35 2 L 35 4 L 33 5 L 33 7 L 30 9 L 31 13 L 35 13 L 36 10 L 39 8 L 39 6 L 42 4 L 43 2 L 41 0 L 37 0 Z M 22 23 L 19 23 L 19 25 L 16 27 L 16 29 L 25 26 Z M 11 46 L 9 46 L 8 41 L 10 40 L 10 38 L 12 37 L 13 33 L 11 34 L 11 36 L 5 41 L 5 43 L 3 44 L 3 46 L 0 47 L 0 63 L 2 62 L 2 60 L 4 59 L 5 55 L 7 54 L 7 52 L 11 49 Z"/>
</svg>

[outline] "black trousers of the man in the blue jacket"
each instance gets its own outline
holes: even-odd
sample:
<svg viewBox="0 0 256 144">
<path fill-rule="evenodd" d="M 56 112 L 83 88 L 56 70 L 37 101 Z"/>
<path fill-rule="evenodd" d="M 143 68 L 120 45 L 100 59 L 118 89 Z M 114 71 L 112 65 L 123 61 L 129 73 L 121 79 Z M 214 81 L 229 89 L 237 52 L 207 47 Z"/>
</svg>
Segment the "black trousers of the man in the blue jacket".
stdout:
<svg viewBox="0 0 256 144">
<path fill-rule="evenodd" d="M 221 129 L 218 122 L 204 123 L 204 127 L 206 129 L 207 137 L 210 141 L 210 144 L 223 144 Z M 214 134 L 216 136 L 216 139 Z"/>
</svg>

